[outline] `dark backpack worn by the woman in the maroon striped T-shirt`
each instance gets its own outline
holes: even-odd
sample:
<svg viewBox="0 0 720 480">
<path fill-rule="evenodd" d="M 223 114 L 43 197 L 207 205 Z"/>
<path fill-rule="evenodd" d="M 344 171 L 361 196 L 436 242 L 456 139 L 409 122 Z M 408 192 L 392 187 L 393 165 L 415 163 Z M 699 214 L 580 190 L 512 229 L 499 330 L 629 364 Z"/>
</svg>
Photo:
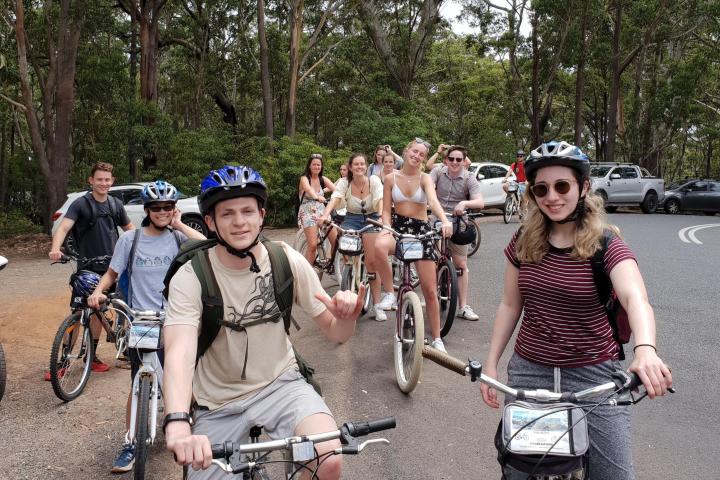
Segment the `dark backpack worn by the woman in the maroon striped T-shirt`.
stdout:
<svg viewBox="0 0 720 480">
<path fill-rule="evenodd" d="M 613 290 L 610 275 L 605 271 L 605 264 L 603 262 L 605 252 L 614 236 L 612 232 L 605 230 L 602 240 L 600 241 L 600 248 L 593 255 L 591 264 L 595 288 L 597 289 L 600 303 L 605 307 L 605 312 L 607 313 L 608 321 L 613 331 L 613 338 L 618 344 L 620 360 L 625 360 L 623 345 L 630 341 L 630 336 L 632 335 L 630 320 L 628 319 L 625 308 L 620 304 L 615 290 Z"/>
</svg>

